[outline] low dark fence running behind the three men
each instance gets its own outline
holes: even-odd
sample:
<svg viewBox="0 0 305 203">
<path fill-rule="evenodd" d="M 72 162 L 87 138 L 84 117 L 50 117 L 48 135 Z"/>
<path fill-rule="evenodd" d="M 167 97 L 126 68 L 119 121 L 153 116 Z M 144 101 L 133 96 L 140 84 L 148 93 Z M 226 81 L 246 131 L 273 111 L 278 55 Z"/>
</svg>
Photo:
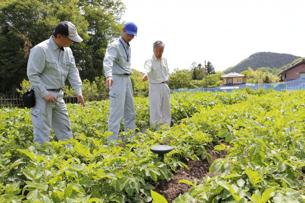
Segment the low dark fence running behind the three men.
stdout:
<svg viewBox="0 0 305 203">
<path fill-rule="evenodd" d="M 148 93 L 134 93 L 137 97 L 147 97 Z M 88 95 L 84 96 L 85 101 L 101 101 L 109 99 L 109 94 L 98 94 L 98 95 Z M 64 96 L 63 100 L 65 103 L 77 103 L 76 96 Z M 0 108 L 24 108 L 22 98 L 20 95 L 6 95 L 0 97 Z"/>
</svg>

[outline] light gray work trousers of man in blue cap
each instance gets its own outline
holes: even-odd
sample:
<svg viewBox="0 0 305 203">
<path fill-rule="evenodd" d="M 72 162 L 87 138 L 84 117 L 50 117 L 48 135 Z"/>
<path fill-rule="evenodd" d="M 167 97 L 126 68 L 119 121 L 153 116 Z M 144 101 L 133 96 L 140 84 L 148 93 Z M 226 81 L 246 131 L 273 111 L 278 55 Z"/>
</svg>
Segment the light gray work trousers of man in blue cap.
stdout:
<svg viewBox="0 0 305 203">
<path fill-rule="evenodd" d="M 107 139 L 117 138 L 122 118 L 124 130 L 135 129 L 135 103 L 129 75 L 112 75 L 113 86 L 109 89 L 109 120 L 108 131 L 113 132 Z"/>
</svg>

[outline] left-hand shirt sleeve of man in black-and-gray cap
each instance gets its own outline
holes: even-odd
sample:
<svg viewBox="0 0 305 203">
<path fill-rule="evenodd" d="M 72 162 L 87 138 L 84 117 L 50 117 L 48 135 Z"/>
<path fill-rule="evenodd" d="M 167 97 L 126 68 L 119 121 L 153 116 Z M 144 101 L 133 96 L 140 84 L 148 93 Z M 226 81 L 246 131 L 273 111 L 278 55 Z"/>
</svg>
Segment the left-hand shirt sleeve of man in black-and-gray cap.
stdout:
<svg viewBox="0 0 305 203">
<path fill-rule="evenodd" d="M 33 47 L 27 63 L 27 76 L 31 85 L 42 98 L 48 96 L 49 92 L 41 81 L 39 75 L 45 69 L 45 51 L 41 47 Z"/>
</svg>

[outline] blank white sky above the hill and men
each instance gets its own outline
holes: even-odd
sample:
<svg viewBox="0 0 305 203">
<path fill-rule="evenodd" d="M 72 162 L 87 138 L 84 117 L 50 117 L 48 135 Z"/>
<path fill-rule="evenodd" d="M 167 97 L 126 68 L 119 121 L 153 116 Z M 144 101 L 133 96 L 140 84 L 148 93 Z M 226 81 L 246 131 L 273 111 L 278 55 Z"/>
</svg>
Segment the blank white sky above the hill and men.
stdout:
<svg viewBox="0 0 305 203">
<path fill-rule="evenodd" d="M 131 67 L 142 72 L 152 44 L 165 44 L 172 72 L 210 61 L 216 71 L 263 51 L 304 57 L 305 0 L 122 0 L 138 26 Z"/>
</svg>

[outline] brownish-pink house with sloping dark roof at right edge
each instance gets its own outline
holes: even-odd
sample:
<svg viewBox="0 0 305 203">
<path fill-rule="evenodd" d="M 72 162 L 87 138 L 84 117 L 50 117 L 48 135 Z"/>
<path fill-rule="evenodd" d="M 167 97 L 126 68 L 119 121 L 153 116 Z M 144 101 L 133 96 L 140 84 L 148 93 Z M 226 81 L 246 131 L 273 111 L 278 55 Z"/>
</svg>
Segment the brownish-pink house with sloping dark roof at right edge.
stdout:
<svg viewBox="0 0 305 203">
<path fill-rule="evenodd" d="M 290 67 L 280 72 L 278 76 L 280 77 L 280 82 L 305 78 L 305 59 L 303 58 L 296 64 L 290 65 Z"/>
</svg>

